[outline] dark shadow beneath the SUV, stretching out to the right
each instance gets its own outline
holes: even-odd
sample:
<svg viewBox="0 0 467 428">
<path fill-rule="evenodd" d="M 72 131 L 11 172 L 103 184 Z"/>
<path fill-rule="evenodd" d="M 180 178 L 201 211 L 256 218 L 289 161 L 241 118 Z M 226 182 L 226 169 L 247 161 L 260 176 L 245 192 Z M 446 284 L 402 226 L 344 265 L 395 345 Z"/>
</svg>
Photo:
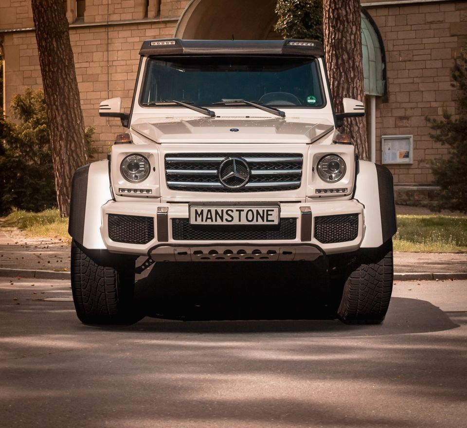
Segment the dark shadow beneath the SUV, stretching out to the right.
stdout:
<svg viewBox="0 0 467 428">
<path fill-rule="evenodd" d="M 344 325 L 336 320 L 339 286 L 329 286 L 325 267 L 319 265 L 199 263 L 194 267 L 167 263 L 156 267 L 136 283 L 139 319 L 146 318 L 124 330 L 326 336 L 345 332 L 352 336 L 458 327 L 430 302 L 396 297 L 382 324 Z"/>
</svg>

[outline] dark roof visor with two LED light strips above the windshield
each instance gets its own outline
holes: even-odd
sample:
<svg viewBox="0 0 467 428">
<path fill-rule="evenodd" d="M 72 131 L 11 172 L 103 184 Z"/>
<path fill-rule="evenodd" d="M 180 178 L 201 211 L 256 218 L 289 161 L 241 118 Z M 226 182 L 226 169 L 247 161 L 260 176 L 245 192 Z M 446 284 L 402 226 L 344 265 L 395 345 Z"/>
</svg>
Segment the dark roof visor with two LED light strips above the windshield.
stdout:
<svg viewBox="0 0 467 428">
<path fill-rule="evenodd" d="M 303 55 L 324 56 L 316 40 L 182 40 L 179 38 L 145 40 L 142 56 L 153 55 Z"/>
</svg>

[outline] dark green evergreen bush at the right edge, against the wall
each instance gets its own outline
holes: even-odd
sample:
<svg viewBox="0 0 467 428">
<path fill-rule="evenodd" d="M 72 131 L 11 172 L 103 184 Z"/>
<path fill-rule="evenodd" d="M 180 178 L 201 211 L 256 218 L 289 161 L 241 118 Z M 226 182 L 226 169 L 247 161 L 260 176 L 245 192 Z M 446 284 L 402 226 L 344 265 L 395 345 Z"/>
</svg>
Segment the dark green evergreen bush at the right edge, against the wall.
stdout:
<svg viewBox="0 0 467 428">
<path fill-rule="evenodd" d="M 436 131 L 431 138 L 448 145 L 450 156 L 434 161 L 431 169 L 435 183 L 441 187 L 439 208 L 467 213 L 467 51 L 454 58 L 451 77 L 451 86 L 458 90 L 458 115 L 454 118 L 445 109 L 442 120 L 427 117 Z"/>
</svg>

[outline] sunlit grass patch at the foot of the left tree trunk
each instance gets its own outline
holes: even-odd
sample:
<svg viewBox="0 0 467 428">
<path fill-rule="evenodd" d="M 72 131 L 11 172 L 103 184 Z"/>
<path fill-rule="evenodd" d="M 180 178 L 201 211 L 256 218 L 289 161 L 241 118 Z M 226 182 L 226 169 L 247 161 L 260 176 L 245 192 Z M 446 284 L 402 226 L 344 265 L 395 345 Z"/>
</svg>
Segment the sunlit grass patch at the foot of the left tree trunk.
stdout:
<svg viewBox="0 0 467 428">
<path fill-rule="evenodd" d="M 58 209 L 44 210 L 40 213 L 14 210 L 6 216 L 1 224 L 3 227 L 17 227 L 31 237 L 47 237 L 71 242 L 68 234 L 68 218 L 60 217 Z"/>
</svg>

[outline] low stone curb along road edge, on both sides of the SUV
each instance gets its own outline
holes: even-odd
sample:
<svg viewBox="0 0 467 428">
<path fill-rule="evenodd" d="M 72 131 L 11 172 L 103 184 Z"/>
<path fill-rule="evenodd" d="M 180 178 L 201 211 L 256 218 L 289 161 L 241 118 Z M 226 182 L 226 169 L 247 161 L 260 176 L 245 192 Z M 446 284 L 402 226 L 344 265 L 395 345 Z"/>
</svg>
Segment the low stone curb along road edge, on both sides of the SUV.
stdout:
<svg viewBox="0 0 467 428">
<path fill-rule="evenodd" d="M 66 279 L 70 280 L 70 272 L 55 272 L 54 270 L 9 269 L 0 267 L 0 277 L 19 276 L 21 278 Z M 435 280 L 467 280 L 467 272 L 405 272 L 395 273 L 394 281 L 435 281 Z"/>
</svg>

